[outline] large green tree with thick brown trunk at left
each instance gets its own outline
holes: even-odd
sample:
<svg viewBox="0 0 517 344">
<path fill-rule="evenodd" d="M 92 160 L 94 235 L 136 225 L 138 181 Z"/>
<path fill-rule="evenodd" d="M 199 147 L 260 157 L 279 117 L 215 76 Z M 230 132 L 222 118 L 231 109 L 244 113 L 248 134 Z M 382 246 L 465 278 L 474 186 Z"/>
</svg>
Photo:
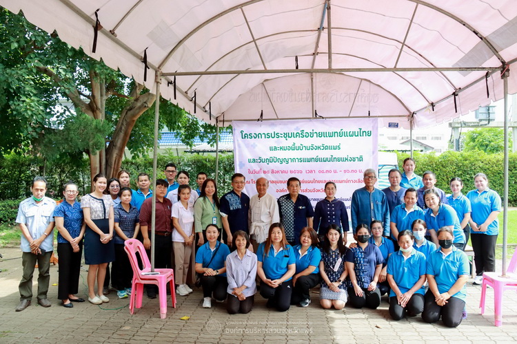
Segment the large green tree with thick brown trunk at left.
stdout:
<svg viewBox="0 0 517 344">
<path fill-rule="evenodd" d="M 110 177 L 126 146 L 136 155 L 152 147 L 156 96 L 148 89 L 21 14 L 1 9 L 0 23 L 0 153 L 30 147 L 59 159 L 84 152 L 91 175 Z M 72 107 L 59 106 L 63 100 Z M 200 131 L 215 131 L 163 98 L 160 109 L 160 128 L 181 132 L 189 146 Z"/>
</svg>

